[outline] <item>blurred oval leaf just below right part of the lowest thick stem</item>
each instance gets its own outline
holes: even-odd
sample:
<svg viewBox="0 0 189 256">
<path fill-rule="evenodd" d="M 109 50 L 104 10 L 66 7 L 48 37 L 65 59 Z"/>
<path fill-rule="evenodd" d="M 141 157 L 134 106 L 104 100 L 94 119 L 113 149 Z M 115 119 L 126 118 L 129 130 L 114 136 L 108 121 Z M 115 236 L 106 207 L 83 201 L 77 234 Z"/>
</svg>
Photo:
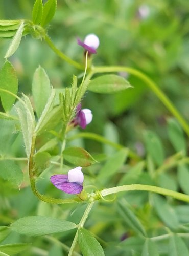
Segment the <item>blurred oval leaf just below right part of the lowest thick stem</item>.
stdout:
<svg viewBox="0 0 189 256">
<path fill-rule="evenodd" d="M 170 228 L 177 229 L 179 225 L 175 210 L 168 204 L 167 200 L 159 195 L 151 195 L 152 204 L 159 218 Z"/>
</svg>

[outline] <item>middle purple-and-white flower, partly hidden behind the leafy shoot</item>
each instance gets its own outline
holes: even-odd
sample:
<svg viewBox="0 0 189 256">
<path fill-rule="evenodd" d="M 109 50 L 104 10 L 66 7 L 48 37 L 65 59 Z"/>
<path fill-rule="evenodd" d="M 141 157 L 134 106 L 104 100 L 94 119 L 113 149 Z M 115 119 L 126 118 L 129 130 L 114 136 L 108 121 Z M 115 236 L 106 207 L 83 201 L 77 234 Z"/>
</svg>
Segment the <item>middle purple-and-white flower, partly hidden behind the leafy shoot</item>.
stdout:
<svg viewBox="0 0 189 256">
<path fill-rule="evenodd" d="M 79 125 L 82 129 L 92 121 L 92 112 L 89 109 L 81 109 L 81 103 L 77 105 L 76 117 L 72 121 L 74 126 Z"/>
</svg>

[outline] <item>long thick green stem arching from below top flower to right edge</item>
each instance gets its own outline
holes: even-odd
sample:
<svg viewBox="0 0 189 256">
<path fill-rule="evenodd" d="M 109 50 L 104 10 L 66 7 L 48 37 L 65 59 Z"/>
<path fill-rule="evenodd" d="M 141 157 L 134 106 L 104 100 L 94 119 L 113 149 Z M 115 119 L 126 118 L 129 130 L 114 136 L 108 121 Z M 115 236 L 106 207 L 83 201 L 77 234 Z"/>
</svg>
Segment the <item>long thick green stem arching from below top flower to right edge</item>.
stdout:
<svg viewBox="0 0 189 256">
<path fill-rule="evenodd" d="M 181 114 L 178 112 L 178 110 L 175 108 L 173 103 L 169 100 L 169 98 L 159 89 L 157 84 L 153 82 L 147 75 L 143 74 L 142 72 L 122 67 L 122 66 L 112 66 L 112 67 L 92 67 L 93 74 L 95 73 L 104 73 L 104 72 L 120 72 L 125 71 L 132 75 L 135 75 L 136 77 L 143 80 L 147 86 L 156 94 L 156 96 L 162 101 L 162 103 L 167 107 L 167 109 L 172 113 L 173 116 L 177 118 L 177 120 L 180 122 L 180 124 L 183 127 L 183 130 L 186 132 L 186 134 L 189 136 L 189 125 L 184 120 L 184 118 L 181 116 Z"/>
</svg>

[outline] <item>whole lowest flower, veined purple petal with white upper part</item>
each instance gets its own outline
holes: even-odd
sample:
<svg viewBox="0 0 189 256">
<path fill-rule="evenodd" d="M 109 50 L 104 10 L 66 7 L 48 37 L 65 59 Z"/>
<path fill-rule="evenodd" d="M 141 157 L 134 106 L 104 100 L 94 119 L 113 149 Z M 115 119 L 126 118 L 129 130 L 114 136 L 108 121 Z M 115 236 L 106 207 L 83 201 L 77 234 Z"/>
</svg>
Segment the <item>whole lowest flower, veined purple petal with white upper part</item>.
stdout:
<svg viewBox="0 0 189 256">
<path fill-rule="evenodd" d="M 69 170 L 68 174 L 51 176 L 53 185 L 68 194 L 79 194 L 83 190 L 84 176 L 81 167 Z"/>
</svg>

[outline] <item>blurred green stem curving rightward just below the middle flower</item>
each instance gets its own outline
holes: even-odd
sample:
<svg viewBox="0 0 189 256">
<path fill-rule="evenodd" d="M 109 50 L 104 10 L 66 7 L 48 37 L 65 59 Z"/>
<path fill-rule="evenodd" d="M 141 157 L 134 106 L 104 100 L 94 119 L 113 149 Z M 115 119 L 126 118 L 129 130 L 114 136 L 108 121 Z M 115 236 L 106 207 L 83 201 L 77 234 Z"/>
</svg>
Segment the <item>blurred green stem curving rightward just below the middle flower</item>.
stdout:
<svg viewBox="0 0 189 256">
<path fill-rule="evenodd" d="M 73 136 L 67 138 L 67 140 L 75 140 L 75 139 L 78 139 L 78 138 L 86 138 L 86 139 L 96 140 L 96 141 L 99 141 L 101 143 L 110 145 L 110 146 L 116 148 L 116 150 L 121 150 L 122 148 L 126 148 L 128 150 L 130 158 L 133 158 L 133 159 L 136 159 L 136 160 L 141 160 L 141 158 L 139 156 L 137 156 L 129 148 L 124 147 L 124 146 L 122 146 L 122 145 L 120 145 L 118 143 L 112 142 L 111 140 L 108 140 L 108 139 L 104 138 L 103 136 L 98 135 L 96 133 L 85 133 L 85 132 L 78 133 L 76 135 L 73 135 Z"/>
</svg>

